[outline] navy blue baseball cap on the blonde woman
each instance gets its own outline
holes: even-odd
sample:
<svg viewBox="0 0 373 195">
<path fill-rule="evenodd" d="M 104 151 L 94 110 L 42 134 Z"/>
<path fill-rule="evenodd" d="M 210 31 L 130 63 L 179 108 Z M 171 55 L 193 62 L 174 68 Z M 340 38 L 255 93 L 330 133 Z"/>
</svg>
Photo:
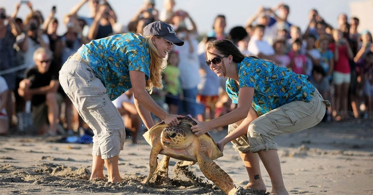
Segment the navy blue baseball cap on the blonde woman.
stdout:
<svg viewBox="0 0 373 195">
<path fill-rule="evenodd" d="M 172 26 L 165 22 L 156 21 L 146 25 L 144 28 L 144 35 L 160 36 L 175 45 L 184 45 L 184 41 L 176 37 L 176 33 L 173 31 Z"/>
</svg>

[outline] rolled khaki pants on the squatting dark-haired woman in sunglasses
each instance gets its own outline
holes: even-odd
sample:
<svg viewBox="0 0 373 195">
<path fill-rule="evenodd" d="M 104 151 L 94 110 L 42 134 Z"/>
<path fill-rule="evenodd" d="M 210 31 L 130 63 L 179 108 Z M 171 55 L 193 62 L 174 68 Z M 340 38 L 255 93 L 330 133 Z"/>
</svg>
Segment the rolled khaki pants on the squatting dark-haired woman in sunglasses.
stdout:
<svg viewBox="0 0 373 195">
<path fill-rule="evenodd" d="M 310 102 L 293 101 L 256 118 L 248 126 L 246 135 L 232 141 L 237 152 L 258 152 L 260 150 L 278 150 L 273 136 L 282 133 L 297 132 L 317 125 L 324 117 L 329 101 L 323 100 L 315 91 Z M 252 108 L 251 108 L 252 109 Z M 228 126 L 228 133 L 241 123 Z"/>
</svg>

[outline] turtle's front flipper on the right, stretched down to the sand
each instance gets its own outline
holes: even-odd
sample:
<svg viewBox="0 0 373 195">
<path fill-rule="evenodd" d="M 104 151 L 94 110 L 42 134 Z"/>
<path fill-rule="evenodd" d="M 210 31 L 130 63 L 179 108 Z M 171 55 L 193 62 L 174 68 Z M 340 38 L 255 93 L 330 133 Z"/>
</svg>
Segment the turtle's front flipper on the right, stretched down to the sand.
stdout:
<svg viewBox="0 0 373 195">
<path fill-rule="evenodd" d="M 201 152 L 202 153 L 202 152 Z M 233 185 L 233 179 L 217 165 L 210 157 L 205 154 L 197 154 L 198 165 L 207 179 L 214 182 L 220 190 L 228 195 L 234 195 L 236 192 Z"/>
</svg>

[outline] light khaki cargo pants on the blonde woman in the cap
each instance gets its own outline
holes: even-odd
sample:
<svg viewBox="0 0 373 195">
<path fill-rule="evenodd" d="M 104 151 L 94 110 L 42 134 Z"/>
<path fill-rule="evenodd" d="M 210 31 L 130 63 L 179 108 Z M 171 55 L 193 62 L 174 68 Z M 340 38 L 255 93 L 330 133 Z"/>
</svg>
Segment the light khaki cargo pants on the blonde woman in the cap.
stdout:
<svg viewBox="0 0 373 195">
<path fill-rule="evenodd" d="M 126 137 L 123 119 L 91 67 L 74 54 L 62 66 L 59 80 L 79 115 L 93 130 L 92 155 L 102 159 L 119 155 Z"/>
</svg>

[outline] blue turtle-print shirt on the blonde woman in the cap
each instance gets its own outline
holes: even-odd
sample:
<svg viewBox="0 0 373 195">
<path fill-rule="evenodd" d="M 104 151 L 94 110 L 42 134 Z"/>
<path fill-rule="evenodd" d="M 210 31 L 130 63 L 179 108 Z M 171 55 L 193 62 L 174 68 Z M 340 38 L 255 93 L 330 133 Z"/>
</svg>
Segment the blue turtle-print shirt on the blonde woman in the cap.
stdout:
<svg viewBox="0 0 373 195">
<path fill-rule="evenodd" d="M 150 77 L 150 54 L 145 38 L 134 33 L 117 34 L 92 40 L 78 50 L 115 100 L 132 88 L 130 70 L 138 70 Z"/>
</svg>

